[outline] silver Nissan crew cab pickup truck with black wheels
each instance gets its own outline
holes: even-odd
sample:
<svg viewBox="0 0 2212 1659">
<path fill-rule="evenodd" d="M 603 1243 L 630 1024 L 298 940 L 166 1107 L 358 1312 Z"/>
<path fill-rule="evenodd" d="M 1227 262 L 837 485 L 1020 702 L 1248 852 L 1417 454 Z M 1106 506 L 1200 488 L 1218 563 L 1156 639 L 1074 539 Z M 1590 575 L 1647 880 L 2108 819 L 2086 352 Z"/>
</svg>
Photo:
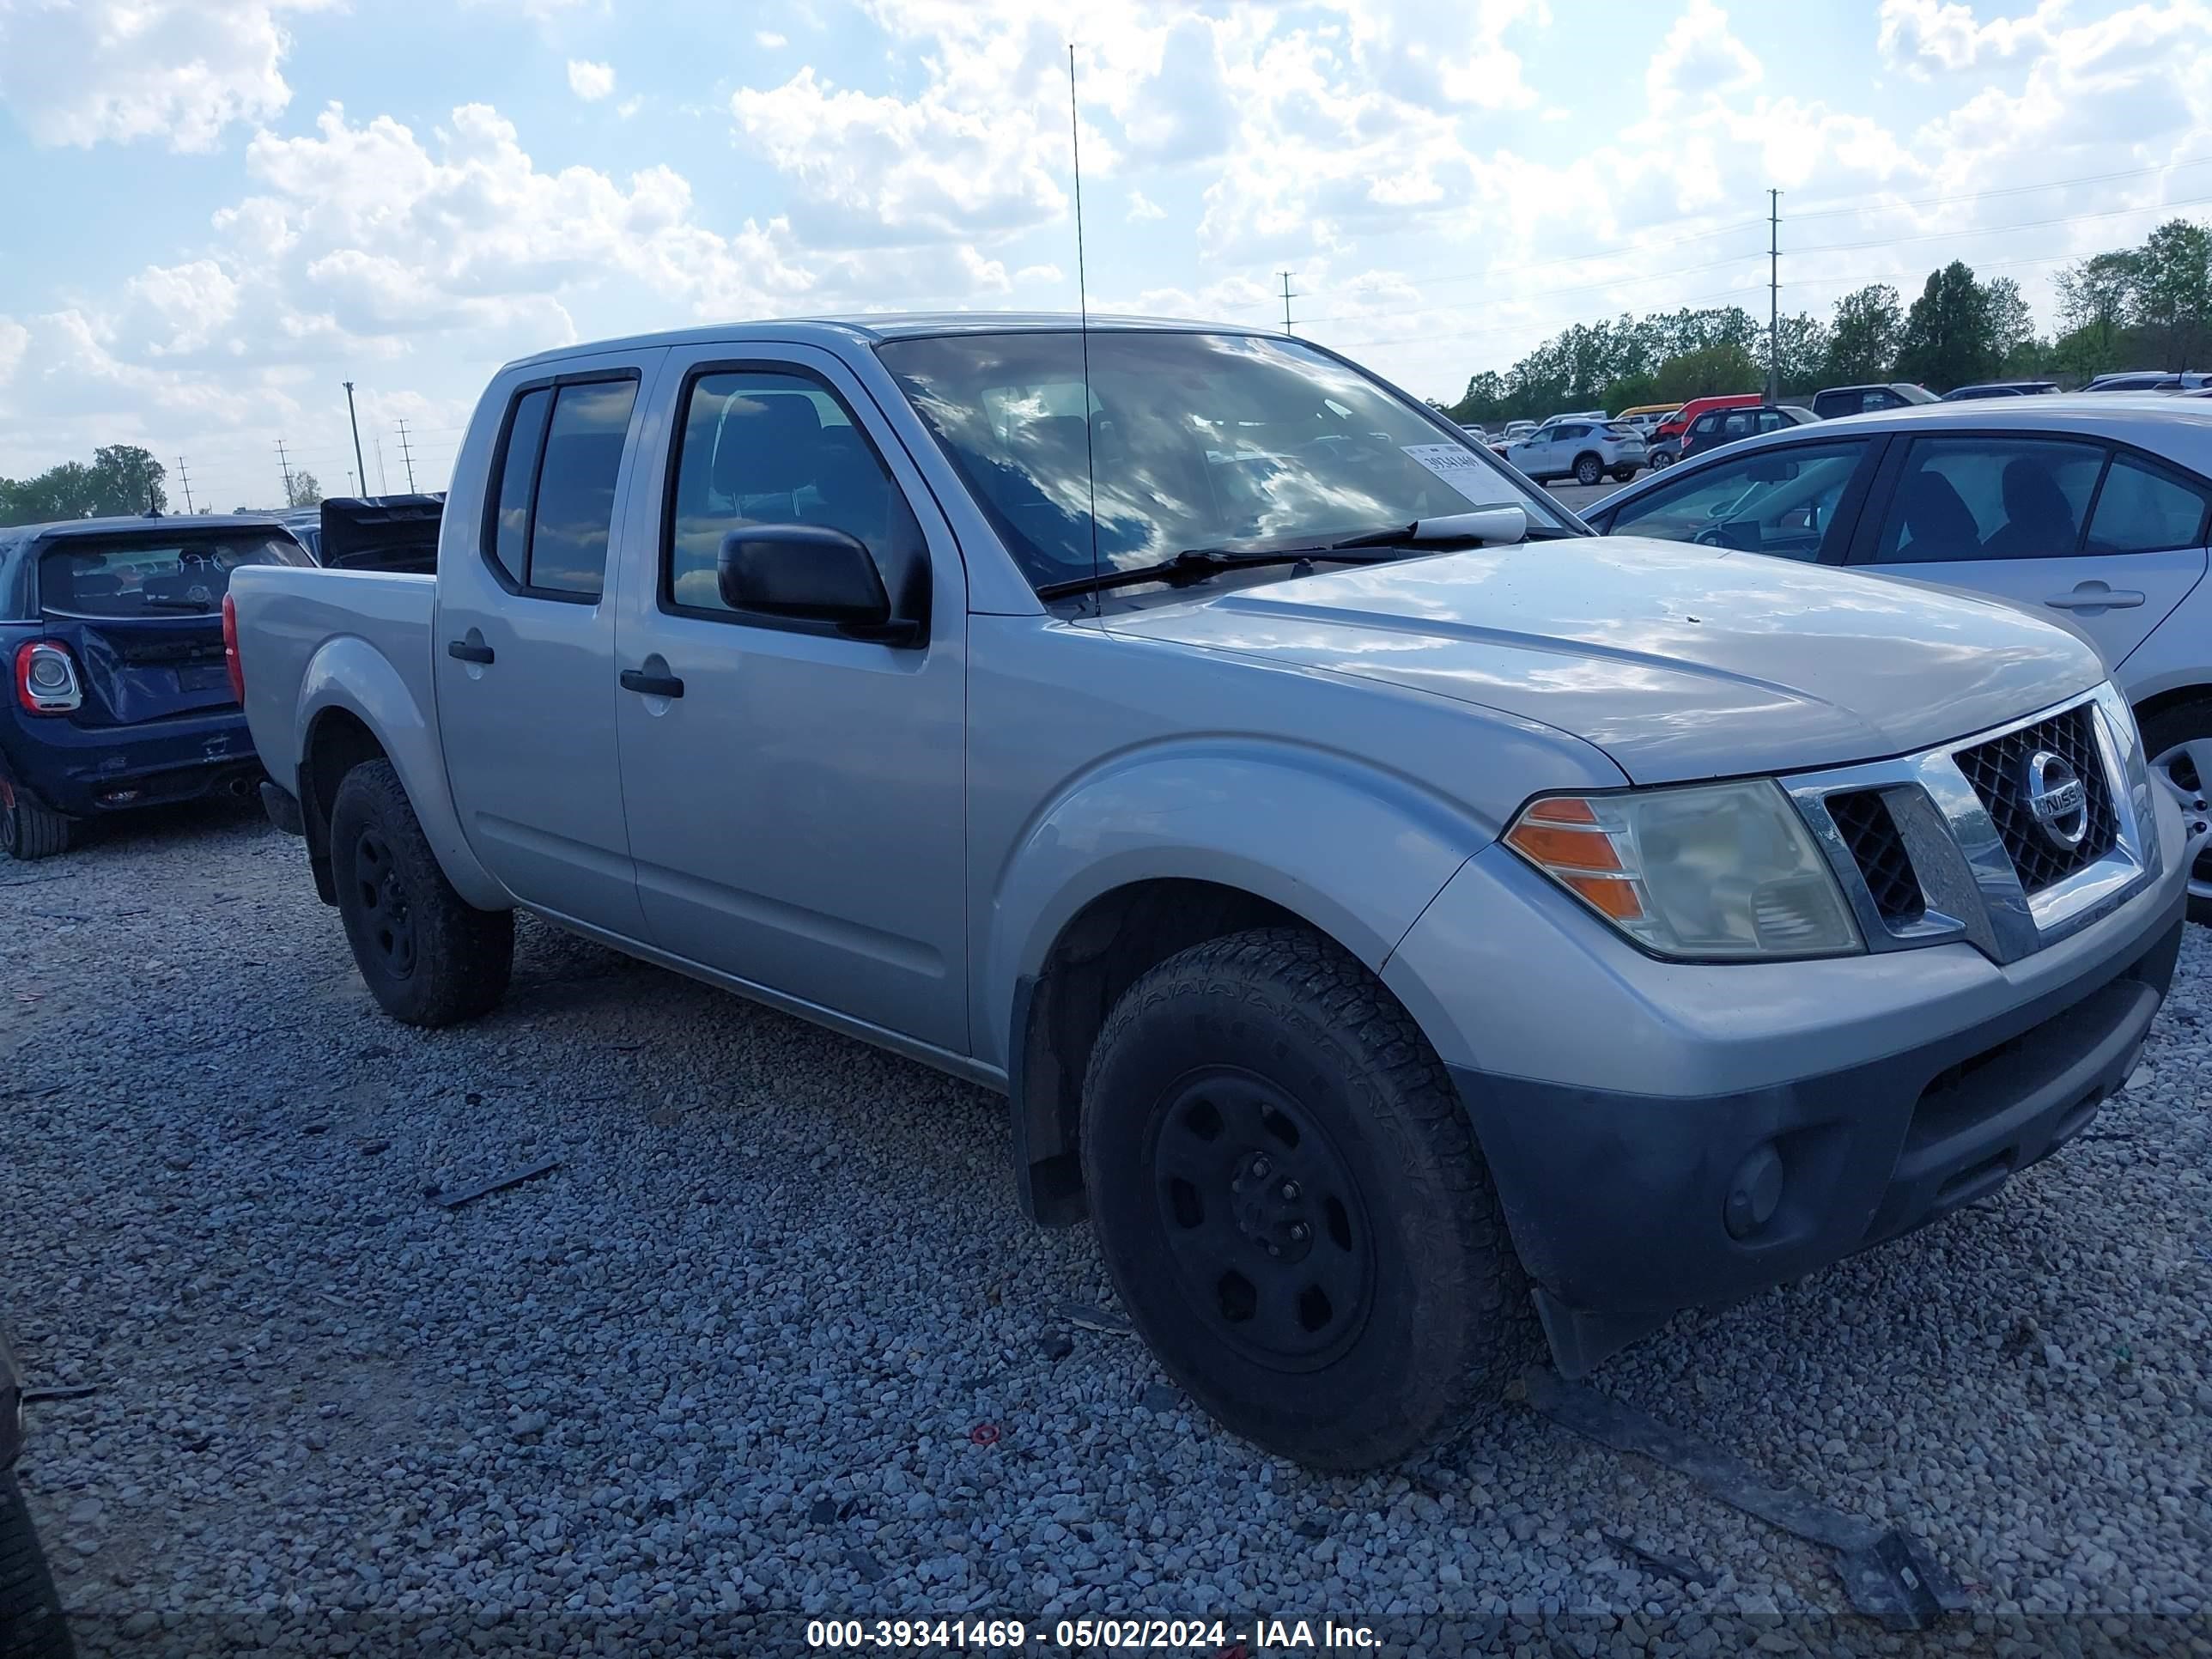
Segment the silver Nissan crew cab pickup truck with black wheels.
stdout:
<svg viewBox="0 0 2212 1659">
<path fill-rule="evenodd" d="M 1029 1214 L 1325 1467 L 2077 1135 L 2201 816 L 2077 635 L 1590 538 L 1234 327 L 551 352 L 436 577 L 248 566 L 226 613 L 396 1020 L 493 1009 L 529 909 L 1004 1091 Z"/>
</svg>

